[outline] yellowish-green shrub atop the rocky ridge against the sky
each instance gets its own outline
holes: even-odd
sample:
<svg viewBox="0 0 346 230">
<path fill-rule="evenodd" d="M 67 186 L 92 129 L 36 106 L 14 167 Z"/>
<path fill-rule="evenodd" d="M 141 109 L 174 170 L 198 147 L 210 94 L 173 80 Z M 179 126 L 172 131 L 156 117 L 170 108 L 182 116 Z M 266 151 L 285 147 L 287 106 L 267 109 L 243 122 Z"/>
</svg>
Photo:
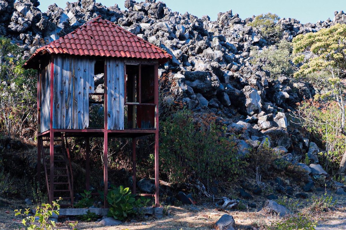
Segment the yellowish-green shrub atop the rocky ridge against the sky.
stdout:
<svg viewBox="0 0 346 230">
<path fill-rule="evenodd" d="M 248 23 L 248 26 L 258 28 L 261 35 L 267 40 L 275 37 L 280 38 L 282 33 L 280 31 L 280 25 L 277 24 L 279 19 L 280 17 L 277 14 L 260 14 L 252 22 Z"/>
</svg>

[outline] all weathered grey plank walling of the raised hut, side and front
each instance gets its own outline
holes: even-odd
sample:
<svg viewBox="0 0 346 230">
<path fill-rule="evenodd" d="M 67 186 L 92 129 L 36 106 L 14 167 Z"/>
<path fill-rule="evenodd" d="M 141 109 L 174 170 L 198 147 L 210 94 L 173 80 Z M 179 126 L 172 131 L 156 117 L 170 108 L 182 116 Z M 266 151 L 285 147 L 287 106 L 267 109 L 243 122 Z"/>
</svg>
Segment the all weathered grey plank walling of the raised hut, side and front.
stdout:
<svg viewBox="0 0 346 230">
<path fill-rule="evenodd" d="M 106 59 L 108 129 L 124 129 L 125 62 L 153 63 L 137 59 Z M 94 92 L 94 58 L 56 55 L 54 59 L 53 128 L 89 127 L 89 93 Z M 49 129 L 50 65 L 41 70 L 41 132 Z"/>
</svg>

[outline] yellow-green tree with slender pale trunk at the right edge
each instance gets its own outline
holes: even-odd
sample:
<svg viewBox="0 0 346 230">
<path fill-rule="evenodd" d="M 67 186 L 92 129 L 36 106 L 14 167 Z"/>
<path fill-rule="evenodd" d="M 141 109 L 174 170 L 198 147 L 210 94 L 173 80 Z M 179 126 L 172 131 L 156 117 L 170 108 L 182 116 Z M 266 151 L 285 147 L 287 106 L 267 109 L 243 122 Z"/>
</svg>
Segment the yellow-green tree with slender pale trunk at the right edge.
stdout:
<svg viewBox="0 0 346 230">
<path fill-rule="evenodd" d="M 316 33 L 298 35 L 293 39 L 293 53 L 296 55 L 294 63 L 301 64 L 300 69 L 294 73 L 295 77 L 306 77 L 320 71 L 330 73 L 328 82 L 332 89 L 331 97 L 337 102 L 340 112 L 338 129 L 346 136 L 344 84 L 341 81 L 346 77 L 346 25 L 335 24 Z M 346 151 L 338 172 L 343 173 L 345 168 Z"/>
</svg>

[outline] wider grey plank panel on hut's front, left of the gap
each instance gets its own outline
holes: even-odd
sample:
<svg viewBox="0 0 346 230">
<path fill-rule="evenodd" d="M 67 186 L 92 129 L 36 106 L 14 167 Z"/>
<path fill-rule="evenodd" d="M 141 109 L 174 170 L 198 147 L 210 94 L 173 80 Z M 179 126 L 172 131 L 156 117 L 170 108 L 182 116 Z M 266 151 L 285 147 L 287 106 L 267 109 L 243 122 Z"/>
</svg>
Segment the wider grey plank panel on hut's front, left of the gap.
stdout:
<svg viewBox="0 0 346 230">
<path fill-rule="evenodd" d="M 89 127 L 89 92 L 94 88 L 94 63 L 90 58 L 55 56 L 54 129 Z"/>
</svg>

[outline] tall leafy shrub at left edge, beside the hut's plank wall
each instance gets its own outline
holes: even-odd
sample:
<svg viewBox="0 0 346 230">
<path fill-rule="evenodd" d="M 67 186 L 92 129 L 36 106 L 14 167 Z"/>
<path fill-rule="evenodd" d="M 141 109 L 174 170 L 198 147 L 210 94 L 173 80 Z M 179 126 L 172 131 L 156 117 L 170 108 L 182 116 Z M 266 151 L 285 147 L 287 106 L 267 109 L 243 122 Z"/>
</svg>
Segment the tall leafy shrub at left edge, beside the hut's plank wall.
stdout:
<svg viewBox="0 0 346 230">
<path fill-rule="evenodd" d="M 32 137 L 36 130 L 36 72 L 22 68 L 20 48 L 0 37 L 0 130 L 9 136 Z"/>
</svg>

